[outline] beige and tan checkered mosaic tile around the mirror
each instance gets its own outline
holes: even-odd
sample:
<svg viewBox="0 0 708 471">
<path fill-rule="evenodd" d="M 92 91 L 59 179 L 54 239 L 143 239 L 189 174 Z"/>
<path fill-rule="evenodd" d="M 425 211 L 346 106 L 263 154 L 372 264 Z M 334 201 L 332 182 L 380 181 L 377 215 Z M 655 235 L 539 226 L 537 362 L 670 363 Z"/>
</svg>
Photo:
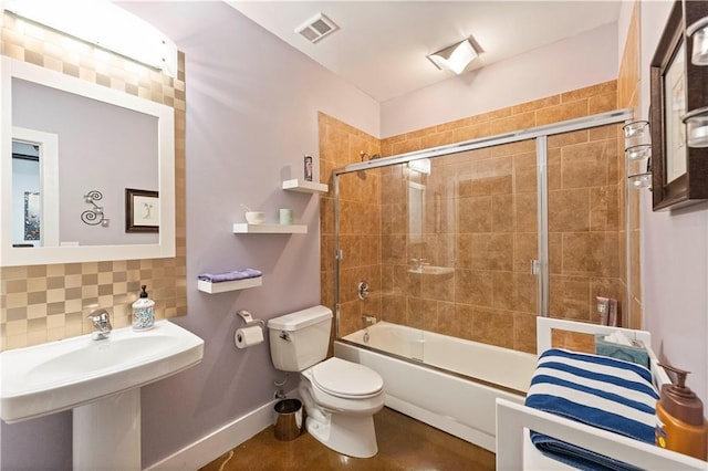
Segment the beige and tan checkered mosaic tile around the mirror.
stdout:
<svg viewBox="0 0 708 471">
<path fill-rule="evenodd" d="M 85 316 L 101 306 L 115 327 L 131 323 L 131 304 L 147 284 L 156 317 L 185 315 L 185 61 L 178 76 L 134 63 L 54 30 L 2 13 L 2 55 L 123 91 L 175 109 L 176 257 L 0 268 L 0 349 L 91 332 Z"/>
</svg>

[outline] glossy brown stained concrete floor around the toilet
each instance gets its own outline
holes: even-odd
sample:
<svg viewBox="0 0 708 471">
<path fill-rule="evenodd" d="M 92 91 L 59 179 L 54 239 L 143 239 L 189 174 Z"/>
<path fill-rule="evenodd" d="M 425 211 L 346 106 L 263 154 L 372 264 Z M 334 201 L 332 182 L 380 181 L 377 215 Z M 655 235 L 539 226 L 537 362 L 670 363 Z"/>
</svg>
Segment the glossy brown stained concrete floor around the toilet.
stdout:
<svg viewBox="0 0 708 471">
<path fill-rule="evenodd" d="M 358 459 L 330 450 L 309 433 L 278 441 L 273 426 L 217 458 L 201 471 L 471 470 L 493 471 L 494 454 L 393 409 L 374 416 L 378 454 Z"/>
</svg>

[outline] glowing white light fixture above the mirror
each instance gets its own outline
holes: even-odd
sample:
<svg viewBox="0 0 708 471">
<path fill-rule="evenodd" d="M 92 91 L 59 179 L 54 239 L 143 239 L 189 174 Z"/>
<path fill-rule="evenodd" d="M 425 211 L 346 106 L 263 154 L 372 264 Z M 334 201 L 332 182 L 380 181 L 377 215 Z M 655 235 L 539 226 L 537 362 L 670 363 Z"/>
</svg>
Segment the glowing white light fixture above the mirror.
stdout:
<svg viewBox="0 0 708 471">
<path fill-rule="evenodd" d="M 155 27 L 108 0 L 3 0 L 4 9 L 90 44 L 177 76 L 177 45 Z"/>
</svg>

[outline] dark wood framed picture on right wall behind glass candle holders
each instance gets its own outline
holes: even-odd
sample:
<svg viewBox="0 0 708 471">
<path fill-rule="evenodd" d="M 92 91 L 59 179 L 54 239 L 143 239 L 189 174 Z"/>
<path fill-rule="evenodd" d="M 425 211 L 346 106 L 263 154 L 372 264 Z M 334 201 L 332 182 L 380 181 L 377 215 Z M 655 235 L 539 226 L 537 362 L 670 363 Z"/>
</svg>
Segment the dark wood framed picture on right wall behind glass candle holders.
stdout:
<svg viewBox="0 0 708 471">
<path fill-rule="evenodd" d="M 708 199 L 708 149 L 686 145 L 684 117 L 706 105 L 708 67 L 690 61 L 685 24 L 708 14 L 707 2 L 676 0 L 650 63 L 653 209 L 674 209 Z M 684 13 L 686 17 L 684 17 Z"/>
</svg>

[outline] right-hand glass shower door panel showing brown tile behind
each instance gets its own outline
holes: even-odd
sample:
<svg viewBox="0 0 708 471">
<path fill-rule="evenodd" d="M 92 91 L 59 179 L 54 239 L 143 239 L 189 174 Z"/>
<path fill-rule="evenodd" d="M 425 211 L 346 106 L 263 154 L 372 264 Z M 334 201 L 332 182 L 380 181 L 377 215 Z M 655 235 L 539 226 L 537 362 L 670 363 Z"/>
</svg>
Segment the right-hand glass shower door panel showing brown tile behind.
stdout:
<svg viewBox="0 0 708 471">
<path fill-rule="evenodd" d="M 622 316 L 623 155 L 620 125 L 548 138 L 548 240 L 552 317 L 598 322 L 596 297 Z"/>
</svg>

